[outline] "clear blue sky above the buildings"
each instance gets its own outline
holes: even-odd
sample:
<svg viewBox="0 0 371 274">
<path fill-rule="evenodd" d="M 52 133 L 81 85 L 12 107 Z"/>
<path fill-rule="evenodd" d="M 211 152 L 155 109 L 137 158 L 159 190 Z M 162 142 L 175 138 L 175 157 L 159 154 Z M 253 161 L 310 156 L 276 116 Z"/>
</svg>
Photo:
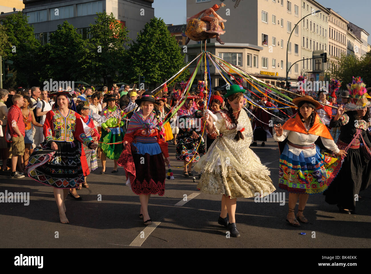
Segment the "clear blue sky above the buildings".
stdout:
<svg viewBox="0 0 371 274">
<path fill-rule="evenodd" d="M 229 1 L 232 0 L 225 0 L 224 3 Z M 370 0 L 318 0 L 317 2 L 326 8 L 331 8 L 344 19 L 366 30 L 370 34 L 368 43 L 371 45 Z M 164 19 L 166 24 L 180 25 L 184 24 L 186 20 L 186 3 L 186 0 L 154 0 L 152 7 L 155 9 L 155 16 Z"/>
</svg>

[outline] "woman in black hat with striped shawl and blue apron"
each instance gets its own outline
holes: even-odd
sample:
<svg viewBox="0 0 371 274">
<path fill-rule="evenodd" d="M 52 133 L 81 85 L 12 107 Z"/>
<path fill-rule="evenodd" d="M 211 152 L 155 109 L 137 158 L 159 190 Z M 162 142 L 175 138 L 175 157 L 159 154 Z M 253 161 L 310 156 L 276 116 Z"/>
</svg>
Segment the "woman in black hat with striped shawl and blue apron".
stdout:
<svg viewBox="0 0 371 274">
<path fill-rule="evenodd" d="M 165 163 L 170 163 L 167 143 L 163 140 L 164 129 L 152 92 L 144 92 L 135 100 L 140 106 L 129 121 L 127 133 L 122 141 L 125 150 L 118 160 L 119 166 L 125 168 L 127 185 L 139 195 L 141 209 L 139 218 L 144 224 L 152 224 L 148 213 L 148 200 L 151 194 L 164 195 Z M 156 112 L 157 111 L 157 112 Z M 162 154 L 165 156 L 162 157 Z"/>
</svg>

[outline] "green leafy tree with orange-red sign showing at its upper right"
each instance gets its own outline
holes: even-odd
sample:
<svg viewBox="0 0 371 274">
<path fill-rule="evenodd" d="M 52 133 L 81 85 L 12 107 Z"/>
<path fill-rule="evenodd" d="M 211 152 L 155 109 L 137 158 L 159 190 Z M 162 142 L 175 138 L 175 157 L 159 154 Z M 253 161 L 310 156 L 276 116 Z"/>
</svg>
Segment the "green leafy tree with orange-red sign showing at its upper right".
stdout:
<svg viewBox="0 0 371 274">
<path fill-rule="evenodd" d="M 91 74 L 95 81 L 111 85 L 122 81 L 126 73 L 127 50 L 130 42 L 128 30 L 122 26 L 113 13 L 97 13 L 95 24 L 90 24 L 89 50 L 91 54 Z"/>
</svg>

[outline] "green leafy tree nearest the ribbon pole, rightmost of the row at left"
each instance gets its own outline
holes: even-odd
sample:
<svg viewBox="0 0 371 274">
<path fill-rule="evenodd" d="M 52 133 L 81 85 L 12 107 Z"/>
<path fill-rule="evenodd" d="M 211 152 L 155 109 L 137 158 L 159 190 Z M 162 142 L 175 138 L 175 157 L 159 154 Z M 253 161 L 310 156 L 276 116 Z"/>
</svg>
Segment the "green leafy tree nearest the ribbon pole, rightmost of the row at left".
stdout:
<svg viewBox="0 0 371 274">
<path fill-rule="evenodd" d="M 164 20 L 156 17 L 138 33 L 136 42 L 130 48 L 130 59 L 130 80 L 136 81 L 140 74 L 152 88 L 176 74 L 185 65 L 177 40 L 171 36 Z M 185 80 L 188 75 L 189 70 L 186 69 L 177 81 Z"/>
</svg>

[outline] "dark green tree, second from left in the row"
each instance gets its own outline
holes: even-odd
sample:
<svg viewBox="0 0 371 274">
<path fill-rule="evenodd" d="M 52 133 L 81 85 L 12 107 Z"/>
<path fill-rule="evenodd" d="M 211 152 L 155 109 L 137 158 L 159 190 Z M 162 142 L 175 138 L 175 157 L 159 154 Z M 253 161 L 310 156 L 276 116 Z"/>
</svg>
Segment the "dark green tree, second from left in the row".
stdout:
<svg viewBox="0 0 371 274">
<path fill-rule="evenodd" d="M 49 81 L 85 81 L 89 78 L 89 50 L 87 42 L 67 21 L 58 25 L 55 33 L 50 35 L 50 43 L 40 49 L 44 59 L 39 71 L 40 82 Z"/>
</svg>

